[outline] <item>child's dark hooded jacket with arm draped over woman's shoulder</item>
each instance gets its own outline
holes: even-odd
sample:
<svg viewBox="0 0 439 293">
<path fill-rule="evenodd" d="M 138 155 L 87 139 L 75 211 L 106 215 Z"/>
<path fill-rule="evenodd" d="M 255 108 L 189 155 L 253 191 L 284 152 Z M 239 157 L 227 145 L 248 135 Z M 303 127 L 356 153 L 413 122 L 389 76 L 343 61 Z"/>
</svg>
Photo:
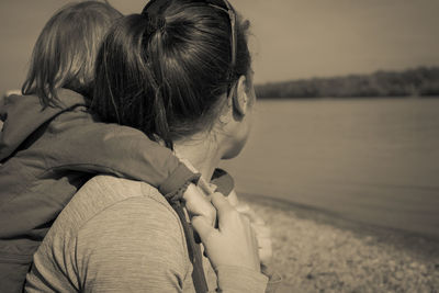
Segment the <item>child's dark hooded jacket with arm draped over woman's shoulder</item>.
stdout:
<svg viewBox="0 0 439 293">
<path fill-rule="evenodd" d="M 0 288 L 20 292 L 33 253 L 77 190 L 97 173 L 182 193 L 199 174 L 142 132 L 100 123 L 85 98 L 59 90 L 59 108 L 34 95 L 0 105 Z"/>
</svg>

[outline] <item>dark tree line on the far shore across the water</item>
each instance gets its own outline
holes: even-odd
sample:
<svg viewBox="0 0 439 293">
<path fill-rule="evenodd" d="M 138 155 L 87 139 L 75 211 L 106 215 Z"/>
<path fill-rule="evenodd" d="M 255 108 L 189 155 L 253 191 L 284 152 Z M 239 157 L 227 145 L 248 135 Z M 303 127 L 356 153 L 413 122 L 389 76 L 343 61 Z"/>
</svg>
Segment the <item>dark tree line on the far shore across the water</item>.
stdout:
<svg viewBox="0 0 439 293">
<path fill-rule="evenodd" d="M 258 98 L 439 97 L 439 67 L 256 86 Z"/>
</svg>

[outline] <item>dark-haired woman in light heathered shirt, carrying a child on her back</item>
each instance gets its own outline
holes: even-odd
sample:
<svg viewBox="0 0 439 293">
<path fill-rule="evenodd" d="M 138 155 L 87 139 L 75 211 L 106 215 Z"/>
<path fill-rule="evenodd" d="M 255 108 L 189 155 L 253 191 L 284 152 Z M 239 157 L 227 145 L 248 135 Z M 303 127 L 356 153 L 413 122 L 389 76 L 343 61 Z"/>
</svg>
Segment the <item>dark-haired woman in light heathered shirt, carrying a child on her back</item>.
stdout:
<svg viewBox="0 0 439 293">
<path fill-rule="evenodd" d="M 250 131 L 248 26 L 227 1 L 150 1 L 106 35 L 92 109 L 106 122 L 140 129 L 210 179 L 221 159 L 240 153 Z M 203 258 L 200 277 L 198 247 L 178 204 L 175 211 L 147 183 L 95 177 L 47 234 L 26 290 L 263 292 L 268 278 L 250 223 L 223 195 L 212 202 L 218 229 L 191 219 L 213 268 Z"/>
</svg>

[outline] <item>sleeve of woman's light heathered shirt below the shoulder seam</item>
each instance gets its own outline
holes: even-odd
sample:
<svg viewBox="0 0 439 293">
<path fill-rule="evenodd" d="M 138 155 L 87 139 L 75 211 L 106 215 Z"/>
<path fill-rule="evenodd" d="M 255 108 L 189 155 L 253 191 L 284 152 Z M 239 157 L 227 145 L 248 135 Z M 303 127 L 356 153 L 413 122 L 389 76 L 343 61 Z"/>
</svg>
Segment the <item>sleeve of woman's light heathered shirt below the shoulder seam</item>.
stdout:
<svg viewBox="0 0 439 293">
<path fill-rule="evenodd" d="M 181 292 L 189 271 L 183 236 L 169 206 L 132 198 L 90 219 L 77 236 L 85 292 Z"/>
</svg>

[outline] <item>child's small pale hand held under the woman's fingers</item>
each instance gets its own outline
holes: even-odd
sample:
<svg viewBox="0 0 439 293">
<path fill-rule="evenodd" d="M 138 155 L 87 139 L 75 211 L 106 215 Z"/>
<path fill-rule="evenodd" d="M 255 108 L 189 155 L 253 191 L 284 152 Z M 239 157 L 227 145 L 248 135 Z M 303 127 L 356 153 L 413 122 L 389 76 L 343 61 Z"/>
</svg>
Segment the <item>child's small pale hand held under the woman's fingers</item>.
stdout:
<svg viewBox="0 0 439 293">
<path fill-rule="evenodd" d="M 215 226 L 216 209 L 196 185 L 190 184 L 188 187 L 183 194 L 183 200 L 190 217 L 201 216 L 206 223 L 211 223 L 212 227 Z"/>
</svg>

